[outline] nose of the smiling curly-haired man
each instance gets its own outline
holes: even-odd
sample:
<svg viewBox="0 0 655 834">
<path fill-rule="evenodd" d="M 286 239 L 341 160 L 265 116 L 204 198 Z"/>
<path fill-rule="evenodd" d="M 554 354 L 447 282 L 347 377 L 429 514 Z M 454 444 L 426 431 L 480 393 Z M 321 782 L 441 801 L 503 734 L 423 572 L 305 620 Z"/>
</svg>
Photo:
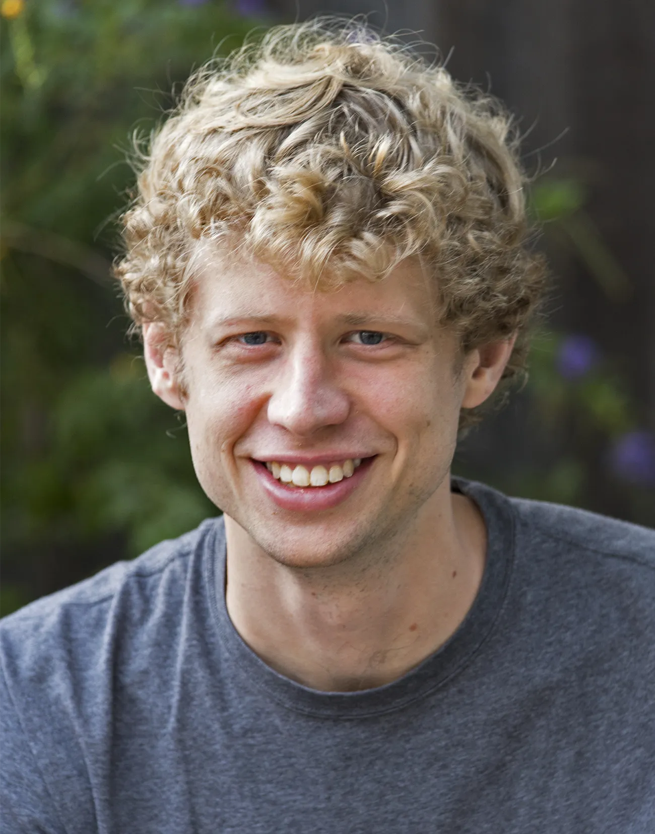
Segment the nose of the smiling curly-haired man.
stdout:
<svg viewBox="0 0 655 834">
<path fill-rule="evenodd" d="M 274 380 L 268 419 L 294 435 L 307 437 L 340 425 L 350 413 L 350 396 L 338 384 L 318 347 L 300 347 Z"/>
</svg>

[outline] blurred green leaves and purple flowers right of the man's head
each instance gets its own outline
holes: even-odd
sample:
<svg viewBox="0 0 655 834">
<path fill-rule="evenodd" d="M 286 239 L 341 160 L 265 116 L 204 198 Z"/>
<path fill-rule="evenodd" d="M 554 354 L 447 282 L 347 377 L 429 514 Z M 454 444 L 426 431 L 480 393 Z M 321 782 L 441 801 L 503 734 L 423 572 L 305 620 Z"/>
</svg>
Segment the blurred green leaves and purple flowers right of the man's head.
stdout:
<svg viewBox="0 0 655 834">
<path fill-rule="evenodd" d="M 566 248 L 606 303 L 619 305 L 632 285 L 587 214 L 587 198 L 580 181 L 543 178 L 532 188 L 532 213 L 547 243 Z M 500 454 L 486 455 L 485 445 L 503 433 L 492 436 L 483 424 L 481 437 L 465 441 L 458 471 L 514 495 L 596 511 L 609 506 L 627 520 L 655 526 L 655 434 L 617 361 L 587 334 L 542 328 L 528 364 L 527 386 L 514 397 L 518 432 L 512 425 Z M 472 454 L 466 455 L 467 445 Z"/>
</svg>

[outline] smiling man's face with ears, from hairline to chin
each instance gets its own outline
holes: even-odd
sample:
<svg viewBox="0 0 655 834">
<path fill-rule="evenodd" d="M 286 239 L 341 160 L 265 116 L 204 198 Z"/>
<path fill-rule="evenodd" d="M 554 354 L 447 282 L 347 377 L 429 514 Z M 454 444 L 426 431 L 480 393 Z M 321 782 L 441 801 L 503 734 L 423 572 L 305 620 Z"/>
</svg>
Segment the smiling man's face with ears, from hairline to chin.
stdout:
<svg viewBox="0 0 655 834">
<path fill-rule="evenodd" d="M 435 304 L 412 261 L 320 292 L 206 250 L 184 399 L 176 357 L 146 331 L 154 390 L 184 407 L 200 484 L 275 560 L 335 565 L 438 511 L 481 363 L 461 362 Z"/>
</svg>

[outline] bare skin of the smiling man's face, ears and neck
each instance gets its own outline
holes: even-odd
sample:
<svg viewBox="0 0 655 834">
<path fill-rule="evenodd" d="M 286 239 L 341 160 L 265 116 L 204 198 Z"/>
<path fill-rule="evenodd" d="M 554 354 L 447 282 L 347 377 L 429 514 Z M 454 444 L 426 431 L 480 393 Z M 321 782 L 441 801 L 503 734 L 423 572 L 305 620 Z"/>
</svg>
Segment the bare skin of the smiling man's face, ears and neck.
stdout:
<svg viewBox="0 0 655 834">
<path fill-rule="evenodd" d="M 480 585 L 484 524 L 449 470 L 461 408 L 491 393 L 512 339 L 461 357 L 418 259 L 316 292 L 209 244 L 193 273 L 184 393 L 159 324 L 145 357 L 224 510 L 230 619 L 307 686 L 394 681 Z"/>
</svg>

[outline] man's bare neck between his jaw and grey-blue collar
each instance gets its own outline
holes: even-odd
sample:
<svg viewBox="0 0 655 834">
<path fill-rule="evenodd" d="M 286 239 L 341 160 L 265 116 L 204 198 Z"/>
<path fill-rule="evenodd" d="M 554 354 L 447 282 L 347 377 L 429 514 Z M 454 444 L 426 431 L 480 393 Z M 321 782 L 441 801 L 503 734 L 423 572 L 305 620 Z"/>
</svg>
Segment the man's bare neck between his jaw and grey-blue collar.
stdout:
<svg viewBox="0 0 655 834">
<path fill-rule="evenodd" d="M 227 607 L 265 663 L 320 691 L 383 686 L 456 631 L 480 586 L 480 511 L 443 485 L 410 530 L 372 558 L 290 568 L 225 516 Z"/>
</svg>

